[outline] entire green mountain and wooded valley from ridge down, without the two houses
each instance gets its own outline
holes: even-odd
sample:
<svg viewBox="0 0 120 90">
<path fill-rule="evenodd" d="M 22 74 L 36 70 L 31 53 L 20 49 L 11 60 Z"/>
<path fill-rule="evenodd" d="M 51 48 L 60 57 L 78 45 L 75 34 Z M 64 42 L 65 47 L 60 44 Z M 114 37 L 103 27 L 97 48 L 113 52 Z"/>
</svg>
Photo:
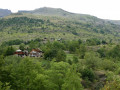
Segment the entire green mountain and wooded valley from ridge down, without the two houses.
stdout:
<svg viewBox="0 0 120 90">
<path fill-rule="evenodd" d="M 0 90 L 120 90 L 119 37 L 119 21 L 62 9 L 0 18 Z"/>
</svg>

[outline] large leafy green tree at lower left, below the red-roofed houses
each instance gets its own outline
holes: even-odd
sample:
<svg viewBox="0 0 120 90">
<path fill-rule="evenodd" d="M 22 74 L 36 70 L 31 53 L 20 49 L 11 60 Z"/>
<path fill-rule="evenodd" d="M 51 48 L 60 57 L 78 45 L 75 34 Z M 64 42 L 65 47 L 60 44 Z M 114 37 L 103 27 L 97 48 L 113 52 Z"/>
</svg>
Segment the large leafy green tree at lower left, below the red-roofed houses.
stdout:
<svg viewBox="0 0 120 90">
<path fill-rule="evenodd" d="M 34 90 L 34 80 L 37 78 L 38 73 L 42 72 L 39 63 L 35 64 L 31 59 L 25 58 L 16 65 L 12 65 L 10 73 L 11 88 L 15 90 Z"/>
</svg>

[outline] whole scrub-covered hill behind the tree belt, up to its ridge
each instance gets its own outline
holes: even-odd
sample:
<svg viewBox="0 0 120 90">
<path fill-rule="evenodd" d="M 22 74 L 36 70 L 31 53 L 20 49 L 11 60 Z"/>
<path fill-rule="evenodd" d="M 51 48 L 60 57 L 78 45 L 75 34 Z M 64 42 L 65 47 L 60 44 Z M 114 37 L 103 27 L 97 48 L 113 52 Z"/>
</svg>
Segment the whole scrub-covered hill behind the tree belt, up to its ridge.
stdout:
<svg viewBox="0 0 120 90">
<path fill-rule="evenodd" d="M 0 41 L 46 37 L 66 40 L 98 38 L 118 42 L 120 26 L 90 15 L 40 8 L 0 19 L 0 36 Z"/>
</svg>

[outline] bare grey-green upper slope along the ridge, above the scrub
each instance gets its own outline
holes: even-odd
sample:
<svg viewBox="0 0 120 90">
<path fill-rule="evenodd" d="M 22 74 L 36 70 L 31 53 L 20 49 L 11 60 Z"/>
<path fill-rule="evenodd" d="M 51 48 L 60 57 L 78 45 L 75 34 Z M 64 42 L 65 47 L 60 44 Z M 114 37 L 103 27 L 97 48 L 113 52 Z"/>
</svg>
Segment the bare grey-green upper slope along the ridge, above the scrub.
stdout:
<svg viewBox="0 0 120 90">
<path fill-rule="evenodd" d="M 43 16 L 57 16 L 62 18 L 73 19 L 82 23 L 88 22 L 91 24 L 104 24 L 109 22 L 109 23 L 117 24 L 116 23 L 117 21 L 114 20 L 107 21 L 87 14 L 71 13 L 60 8 L 43 7 L 31 11 L 21 10 L 18 11 L 18 13 L 28 13 L 28 14 L 43 15 Z"/>
</svg>

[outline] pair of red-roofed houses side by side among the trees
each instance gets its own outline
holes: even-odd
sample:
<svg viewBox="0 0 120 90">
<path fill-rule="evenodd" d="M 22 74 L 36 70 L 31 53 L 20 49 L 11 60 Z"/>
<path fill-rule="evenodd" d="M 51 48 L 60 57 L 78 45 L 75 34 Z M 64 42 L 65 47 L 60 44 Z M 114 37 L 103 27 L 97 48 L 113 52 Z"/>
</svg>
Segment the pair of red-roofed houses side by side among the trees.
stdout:
<svg viewBox="0 0 120 90">
<path fill-rule="evenodd" d="M 43 56 L 43 51 L 40 49 L 32 49 L 30 52 L 27 50 L 16 50 L 15 55 L 24 57 L 24 56 L 30 56 L 30 57 L 42 57 Z"/>
</svg>

